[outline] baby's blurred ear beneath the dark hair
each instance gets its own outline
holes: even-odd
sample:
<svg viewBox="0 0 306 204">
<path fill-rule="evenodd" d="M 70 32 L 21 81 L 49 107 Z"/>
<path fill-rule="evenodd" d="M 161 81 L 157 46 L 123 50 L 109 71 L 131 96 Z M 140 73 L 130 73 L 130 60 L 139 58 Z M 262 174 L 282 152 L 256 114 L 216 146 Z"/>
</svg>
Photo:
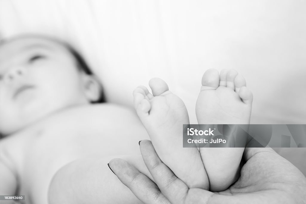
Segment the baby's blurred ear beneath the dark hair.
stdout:
<svg viewBox="0 0 306 204">
<path fill-rule="evenodd" d="M 102 87 L 95 76 L 83 74 L 83 88 L 86 98 L 90 102 L 98 101 L 102 94 Z"/>
</svg>

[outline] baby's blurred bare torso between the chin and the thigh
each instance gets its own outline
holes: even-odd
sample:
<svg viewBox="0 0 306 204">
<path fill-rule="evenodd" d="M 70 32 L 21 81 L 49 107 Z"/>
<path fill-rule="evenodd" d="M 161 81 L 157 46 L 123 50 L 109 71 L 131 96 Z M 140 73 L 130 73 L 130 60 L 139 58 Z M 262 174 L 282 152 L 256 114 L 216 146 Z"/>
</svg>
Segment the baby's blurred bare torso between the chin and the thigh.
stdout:
<svg viewBox="0 0 306 204">
<path fill-rule="evenodd" d="M 32 133 L 31 133 L 32 132 Z M 47 203 L 47 190 L 62 166 L 79 158 L 139 154 L 147 133 L 132 112 L 96 105 L 59 113 L 26 131 L 30 141 L 21 169 L 20 195 L 27 203 Z"/>
</svg>

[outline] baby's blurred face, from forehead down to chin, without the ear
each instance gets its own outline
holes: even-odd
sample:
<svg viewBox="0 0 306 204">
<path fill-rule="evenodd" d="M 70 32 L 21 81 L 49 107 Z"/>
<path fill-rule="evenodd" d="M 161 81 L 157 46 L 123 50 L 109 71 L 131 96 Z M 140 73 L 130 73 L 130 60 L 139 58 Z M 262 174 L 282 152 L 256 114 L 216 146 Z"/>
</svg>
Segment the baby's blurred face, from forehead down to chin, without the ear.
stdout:
<svg viewBox="0 0 306 204">
<path fill-rule="evenodd" d="M 0 126 L 10 134 L 68 106 L 88 103 L 82 72 L 65 46 L 21 38 L 0 46 Z"/>
</svg>

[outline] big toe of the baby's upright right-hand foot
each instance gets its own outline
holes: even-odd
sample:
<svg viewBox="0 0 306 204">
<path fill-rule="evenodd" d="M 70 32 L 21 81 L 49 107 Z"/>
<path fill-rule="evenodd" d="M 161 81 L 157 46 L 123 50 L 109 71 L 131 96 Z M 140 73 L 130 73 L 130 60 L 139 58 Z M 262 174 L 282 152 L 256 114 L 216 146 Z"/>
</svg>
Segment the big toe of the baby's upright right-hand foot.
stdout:
<svg viewBox="0 0 306 204">
<path fill-rule="evenodd" d="M 217 69 L 208 69 L 202 77 L 201 91 L 213 90 L 219 87 L 220 75 Z"/>
</svg>

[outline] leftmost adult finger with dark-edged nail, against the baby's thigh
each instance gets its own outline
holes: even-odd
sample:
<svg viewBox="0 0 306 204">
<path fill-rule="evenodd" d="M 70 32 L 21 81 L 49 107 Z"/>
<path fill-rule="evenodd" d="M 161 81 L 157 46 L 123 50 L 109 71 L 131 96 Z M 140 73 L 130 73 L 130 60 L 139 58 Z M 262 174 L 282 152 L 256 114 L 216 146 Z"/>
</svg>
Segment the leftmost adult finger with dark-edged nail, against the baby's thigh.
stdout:
<svg viewBox="0 0 306 204">
<path fill-rule="evenodd" d="M 145 204 L 170 204 L 157 185 L 123 159 L 112 159 L 110 169 Z"/>
</svg>

